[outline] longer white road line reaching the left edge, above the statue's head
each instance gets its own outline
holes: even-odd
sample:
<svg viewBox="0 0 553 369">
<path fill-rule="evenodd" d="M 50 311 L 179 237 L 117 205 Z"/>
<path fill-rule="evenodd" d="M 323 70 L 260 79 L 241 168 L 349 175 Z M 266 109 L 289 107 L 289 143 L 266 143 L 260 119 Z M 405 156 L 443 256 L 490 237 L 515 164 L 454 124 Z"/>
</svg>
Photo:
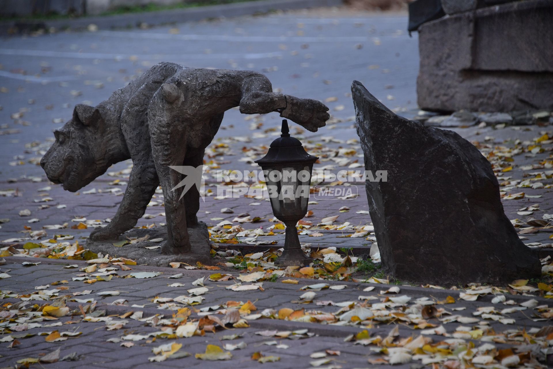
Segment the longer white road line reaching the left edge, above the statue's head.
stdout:
<svg viewBox="0 0 553 369">
<path fill-rule="evenodd" d="M 109 54 L 76 53 L 71 51 L 0 49 L 0 55 L 43 56 L 49 58 L 73 59 L 115 59 L 124 60 L 136 56 L 140 59 L 270 59 L 282 56 L 282 53 L 246 53 L 246 54 Z"/>
</svg>

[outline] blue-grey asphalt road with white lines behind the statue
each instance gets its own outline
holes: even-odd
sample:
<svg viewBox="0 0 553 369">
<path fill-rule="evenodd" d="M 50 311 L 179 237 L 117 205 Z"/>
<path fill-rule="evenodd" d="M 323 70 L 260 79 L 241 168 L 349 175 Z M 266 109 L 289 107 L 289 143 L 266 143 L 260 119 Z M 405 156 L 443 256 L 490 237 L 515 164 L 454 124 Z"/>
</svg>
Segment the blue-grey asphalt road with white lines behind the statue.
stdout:
<svg viewBox="0 0 553 369">
<path fill-rule="evenodd" d="M 43 175 L 29 163 L 40 156 L 29 143 L 52 138 L 75 104 L 96 105 L 158 61 L 263 72 L 284 93 L 337 97 L 327 105 L 338 118 L 354 115 L 349 86 L 359 80 L 388 107 L 412 115 L 418 42 L 416 34 L 406 33 L 406 22 L 406 14 L 319 9 L 146 30 L 3 38 L 0 180 Z M 280 118 L 272 113 L 265 119 L 269 127 Z M 233 128 L 221 129 L 217 138 L 252 133 L 236 110 L 227 112 L 222 126 Z M 351 123 L 348 127 L 332 134 L 356 137 Z M 312 137 L 328 134 L 325 128 Z"/>
</svg>

